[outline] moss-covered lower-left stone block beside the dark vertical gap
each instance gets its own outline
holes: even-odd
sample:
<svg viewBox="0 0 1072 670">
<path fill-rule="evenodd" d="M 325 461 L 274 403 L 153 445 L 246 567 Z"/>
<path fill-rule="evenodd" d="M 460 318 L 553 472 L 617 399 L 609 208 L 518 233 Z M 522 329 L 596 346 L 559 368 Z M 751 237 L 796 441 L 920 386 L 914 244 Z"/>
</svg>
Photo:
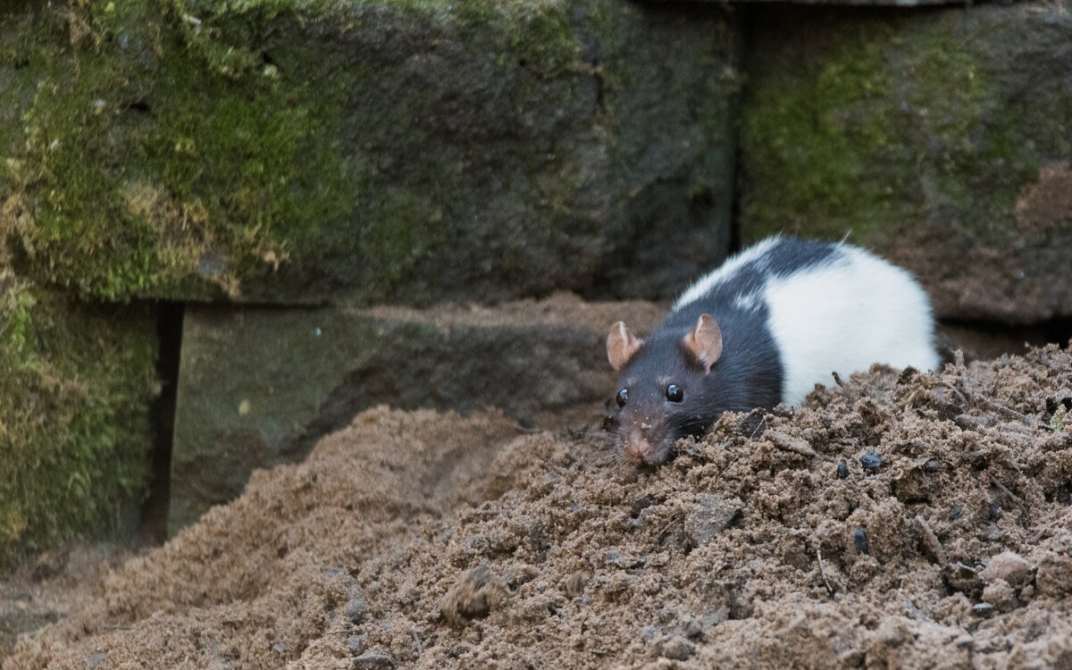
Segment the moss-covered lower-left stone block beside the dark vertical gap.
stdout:
<svg viewBox="0 0 1072 670">
<path fill-rule="evenodd" d="M 146 483 L 154 321 L 0 277 L 0 564 L 110 526 Z"/>
</svg>

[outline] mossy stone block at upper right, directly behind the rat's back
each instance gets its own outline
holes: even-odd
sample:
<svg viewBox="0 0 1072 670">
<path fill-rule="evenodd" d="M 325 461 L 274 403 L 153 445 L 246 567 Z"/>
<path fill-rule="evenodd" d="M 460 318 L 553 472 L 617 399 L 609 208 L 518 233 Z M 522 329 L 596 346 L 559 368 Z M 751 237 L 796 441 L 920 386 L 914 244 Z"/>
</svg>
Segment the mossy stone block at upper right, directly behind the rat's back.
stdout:
<svg viewBox="0 0 1072 670">
<path fill-rule="evenodd" d="M 1072 315 L 1064 10 L 784 8 L 755 27 L 746 240 L 850 234 L 914 270 L 948 318 Z"/>
</svg>

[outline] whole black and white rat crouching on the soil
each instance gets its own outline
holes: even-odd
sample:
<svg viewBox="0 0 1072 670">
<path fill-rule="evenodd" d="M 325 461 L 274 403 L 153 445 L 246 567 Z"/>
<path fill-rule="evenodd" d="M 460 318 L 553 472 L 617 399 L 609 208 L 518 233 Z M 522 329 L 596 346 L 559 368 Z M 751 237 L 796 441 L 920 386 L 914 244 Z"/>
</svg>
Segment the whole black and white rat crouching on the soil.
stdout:
<svg viewBox="0 0 1072 670">
<path fill-rule="evenodd" d="M 697 280 L 646 338 L 615 323 L 607 358 L 619 372 L 616 440 L 647 465 L 725 412 L 800 404 L 831 373 L 939 362 L 930 301 L 911 273 L 844 240 L 783 236 Z"/>
</svg>

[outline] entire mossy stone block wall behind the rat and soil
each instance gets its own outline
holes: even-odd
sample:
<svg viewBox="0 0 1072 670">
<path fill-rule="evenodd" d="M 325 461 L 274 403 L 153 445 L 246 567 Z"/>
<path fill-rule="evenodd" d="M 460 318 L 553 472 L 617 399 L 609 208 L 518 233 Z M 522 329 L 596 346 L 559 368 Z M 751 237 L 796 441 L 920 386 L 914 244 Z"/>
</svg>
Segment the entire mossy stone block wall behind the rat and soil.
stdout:
<svg viewBox="0 0 1072 670">
<path fill-rule="evenodd" d="M 584 417 L 609 323 L 772 233 L 1067 337 L 1070 45 L 1066 2 L 5 5 L 0 562 L 133 536 L 162 453 L 174 531 L 371 404 Z"/>
</svg>

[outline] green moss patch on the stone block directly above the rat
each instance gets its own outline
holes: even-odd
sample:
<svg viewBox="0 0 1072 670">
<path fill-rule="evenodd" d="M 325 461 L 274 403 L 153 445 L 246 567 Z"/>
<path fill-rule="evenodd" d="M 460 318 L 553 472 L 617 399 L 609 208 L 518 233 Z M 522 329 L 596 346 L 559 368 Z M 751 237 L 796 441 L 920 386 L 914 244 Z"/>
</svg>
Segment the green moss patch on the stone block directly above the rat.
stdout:
<svg viewBox="0 0 1072 670">
<path fill-rule="evenodd" d="M 877 34 L 875 34 L 877 32 Z M 881 54 L 889 31 L 845 35 L 807 77 L 783 71 L 749 88 L 743 115 L 744 168 L 770 190 L 749 191 L 743 209 L 749 236 L 806 226 L 838 237 L 847 225 L 887 225 L 896 215 L 898 184 L 866 179 L 899 148 Z"/>
</svg>

